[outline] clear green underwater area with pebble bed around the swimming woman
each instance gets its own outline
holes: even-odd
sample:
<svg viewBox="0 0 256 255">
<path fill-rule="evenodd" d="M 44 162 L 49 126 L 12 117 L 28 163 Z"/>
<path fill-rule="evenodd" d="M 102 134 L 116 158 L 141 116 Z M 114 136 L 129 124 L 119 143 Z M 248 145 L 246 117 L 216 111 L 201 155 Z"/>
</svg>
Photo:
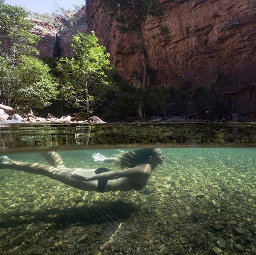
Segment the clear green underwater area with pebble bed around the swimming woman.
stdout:
<svg viewBox="0 0 256 255">
<path fill-rule="evenodd" d="M 89 192 L 0 169 L 0 254 L 255 255 L 256 148 L 161 150 L 140 191 Z M 120 150 L 58 151 L 69 168 L 118 170 L 94 152 Z M 36 151 L 2 155 L 48 164 Z"/>
</svg>

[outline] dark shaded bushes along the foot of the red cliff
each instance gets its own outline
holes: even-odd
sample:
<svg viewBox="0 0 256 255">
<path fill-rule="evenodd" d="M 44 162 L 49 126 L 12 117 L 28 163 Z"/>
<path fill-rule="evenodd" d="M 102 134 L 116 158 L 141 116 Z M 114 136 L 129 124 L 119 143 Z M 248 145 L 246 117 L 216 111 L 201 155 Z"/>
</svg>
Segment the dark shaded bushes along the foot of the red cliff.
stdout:
<svg viewBox="0 0 256 255">
<path fill-rule="evenodd" d="M 221 92 L 214 89 L 214 86 L 192 89 L 149 85 L 146 88 L 135 88 L 124 80 L 118 81 L 117 86 L 118 92 L 112 102 L 100 112 L 100 116 L 108 121 L 125 121 L 128 117 L 136 117 L 139 103 L 146 119 L 182 115 L 214 120 L 228 114 L 227 107 L 222 103 Z"/>
</svg>

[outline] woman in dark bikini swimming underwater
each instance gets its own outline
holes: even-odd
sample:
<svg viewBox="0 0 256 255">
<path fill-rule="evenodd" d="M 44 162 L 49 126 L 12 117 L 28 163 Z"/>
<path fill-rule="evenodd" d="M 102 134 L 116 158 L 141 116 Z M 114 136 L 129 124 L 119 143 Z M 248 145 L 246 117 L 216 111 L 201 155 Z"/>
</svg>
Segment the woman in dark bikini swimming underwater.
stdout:
<svg viewBox="0 0 256 255">
<path fill-rule="evenodd" d="M 94 153 L 95 161 L 114 162 L 121 168 L 110 171 L 107 168 L 85 169 L 67 168 L 56 152 L 42 153 L 51 166 L 39 163 L 14 161 L 7 156 L 0 157 L 0 169 L 15 169 L 23 172 L 41 174 L 61 181 L 71 187 L 87 191 L 129 191 L 143 189 L 153 170 L 164 161 L 160 149 L 138 149 L 123 152 L 117 158 L 105 158 Z"/>
</svg>

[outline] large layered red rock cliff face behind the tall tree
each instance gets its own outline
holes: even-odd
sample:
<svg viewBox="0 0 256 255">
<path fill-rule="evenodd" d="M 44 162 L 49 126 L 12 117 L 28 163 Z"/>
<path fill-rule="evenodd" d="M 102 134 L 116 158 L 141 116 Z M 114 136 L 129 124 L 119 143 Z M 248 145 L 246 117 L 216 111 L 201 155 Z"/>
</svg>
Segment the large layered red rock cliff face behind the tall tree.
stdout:
<svg viewBox="0 0 256 255">
<path fill-rule="evenodd" d="M 197 87 L 218 84 L 232 112 L 256 118 L 256 1 L 162 0 L 164 16 L 144 24 L 150 82 Z M 132 50 L 136 36 L 120 35 L 99 0 L 86 1 L 88 31 L 106 45 L 122 77 L 142 71 L 143 59 Z M 159 33 L 166 26 L 170 38 Z"/>
</svg>

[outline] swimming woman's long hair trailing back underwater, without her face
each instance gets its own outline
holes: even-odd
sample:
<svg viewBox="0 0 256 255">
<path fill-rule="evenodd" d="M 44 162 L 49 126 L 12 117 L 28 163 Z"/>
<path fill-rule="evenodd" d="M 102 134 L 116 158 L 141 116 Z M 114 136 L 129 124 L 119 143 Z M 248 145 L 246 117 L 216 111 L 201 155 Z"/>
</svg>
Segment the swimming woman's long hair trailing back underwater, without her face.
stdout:
<svg viewBox="0 0 256 255">
<path fill-rule="evenodd" d="M 156 155 L 155 149 L 138 149 L 128 152 L 123 152 L 117 160 L 118 166 L 121 168 L 125 167 L 135 167 L 141 164 L 148 164 L 149 157 Z"/>
</svg>

